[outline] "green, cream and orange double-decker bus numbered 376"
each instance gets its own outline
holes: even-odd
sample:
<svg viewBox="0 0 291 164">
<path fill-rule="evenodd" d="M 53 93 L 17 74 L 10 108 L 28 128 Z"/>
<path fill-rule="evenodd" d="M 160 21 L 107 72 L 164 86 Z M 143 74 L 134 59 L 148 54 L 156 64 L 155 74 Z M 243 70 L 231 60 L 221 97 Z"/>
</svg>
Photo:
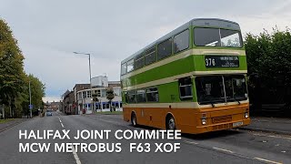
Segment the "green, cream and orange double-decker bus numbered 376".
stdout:
<svg viewBox="0 0 291 164">
<path fill-rule="evenodd" d="M 250 123 L 240 26 L 198 18 L 121 62 L 124 120 L 204 133 Z"/>
</svg>

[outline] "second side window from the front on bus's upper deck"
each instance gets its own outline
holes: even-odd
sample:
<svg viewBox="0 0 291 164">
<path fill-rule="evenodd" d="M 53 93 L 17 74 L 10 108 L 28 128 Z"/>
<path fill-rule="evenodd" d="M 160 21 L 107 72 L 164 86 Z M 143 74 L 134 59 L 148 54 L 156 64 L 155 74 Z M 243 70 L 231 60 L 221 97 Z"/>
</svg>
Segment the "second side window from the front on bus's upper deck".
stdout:
<svg viewBox="0 0 291 164">
<path fill-rule="evenodd" d="M 172 38 L 165 40 L 157 46 L 157 60 L 172 55 Z"/>
</svg>

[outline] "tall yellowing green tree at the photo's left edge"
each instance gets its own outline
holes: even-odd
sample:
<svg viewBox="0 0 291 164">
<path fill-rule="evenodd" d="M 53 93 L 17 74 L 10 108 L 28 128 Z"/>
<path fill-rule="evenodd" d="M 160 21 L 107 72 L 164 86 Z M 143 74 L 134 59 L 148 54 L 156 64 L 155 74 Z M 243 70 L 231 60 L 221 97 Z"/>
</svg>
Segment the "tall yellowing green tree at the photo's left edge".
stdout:
<svg viewBox="0 0 291 164">
<path fill-rule="evenodd" d="M 20 104 L 25 95 L 24 59 L 12 31 L 4 20 L 0 19 L 0 99 L 7 105 L 8 116 L 21 113 Z"/>
</svg>

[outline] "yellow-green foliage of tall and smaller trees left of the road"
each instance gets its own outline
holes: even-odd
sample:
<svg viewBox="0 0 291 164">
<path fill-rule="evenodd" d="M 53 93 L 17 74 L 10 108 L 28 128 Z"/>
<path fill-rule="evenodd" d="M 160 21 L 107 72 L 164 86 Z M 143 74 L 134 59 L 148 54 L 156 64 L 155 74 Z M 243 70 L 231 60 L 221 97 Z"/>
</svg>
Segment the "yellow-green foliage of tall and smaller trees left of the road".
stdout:
<svg viewBox="0 0 291 164">
<path fill-rule="evenodd" d="M 24 59 L 12 31 L 4 20 L 0 19 L 0 104 L 5 104 L 6 117 L 21 117 L 28 109 L 28 82 L 34 81 L 35 105 L 39 106 L 39 97 L 44 97 L 44 85 L 35 77 L 27 76 Z M 41 100 L 42 101 L 42 100 Z M 11 110 L 10 110 L 11 108 Z M 10 113 L 11 111 L 11 113 Z"/>
</svg>

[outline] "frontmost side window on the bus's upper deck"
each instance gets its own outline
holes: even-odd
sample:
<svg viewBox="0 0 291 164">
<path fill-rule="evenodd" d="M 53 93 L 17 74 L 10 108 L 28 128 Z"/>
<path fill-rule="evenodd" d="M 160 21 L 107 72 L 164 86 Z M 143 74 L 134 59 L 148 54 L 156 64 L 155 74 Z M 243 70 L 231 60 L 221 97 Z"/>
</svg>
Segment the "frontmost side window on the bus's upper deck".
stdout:
<svg viewBox="0 0 291 164">
<path fill-rule="evenodd" d="M 178 53 L 189 47 L 189 30 L 174 36 L 174 52 Z"/>
</svg>

